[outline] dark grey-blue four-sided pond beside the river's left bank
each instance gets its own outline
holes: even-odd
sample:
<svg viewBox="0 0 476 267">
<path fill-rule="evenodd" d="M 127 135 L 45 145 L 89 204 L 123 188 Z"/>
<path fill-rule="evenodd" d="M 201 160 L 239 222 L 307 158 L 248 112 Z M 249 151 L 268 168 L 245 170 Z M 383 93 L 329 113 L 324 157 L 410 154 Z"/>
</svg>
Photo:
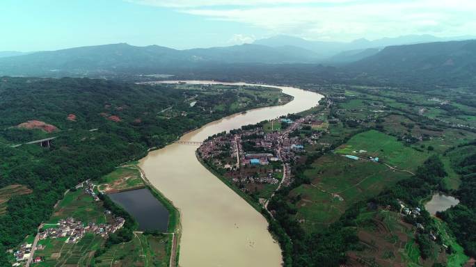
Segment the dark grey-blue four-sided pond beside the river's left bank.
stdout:
<svg viewBox="0 0 476 267">
<path fill-rule="evenodd" d="M 136 219 L 141 231 L 167 232 L 168 211 L 148 188 L 112 193 L 109 197 Z"/>
</svg>

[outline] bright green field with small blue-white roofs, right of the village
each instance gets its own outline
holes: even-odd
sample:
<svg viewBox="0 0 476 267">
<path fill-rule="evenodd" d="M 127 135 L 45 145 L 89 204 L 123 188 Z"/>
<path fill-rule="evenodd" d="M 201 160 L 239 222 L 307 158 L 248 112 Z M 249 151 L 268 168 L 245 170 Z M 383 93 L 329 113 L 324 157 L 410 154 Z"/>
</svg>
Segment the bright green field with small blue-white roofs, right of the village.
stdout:
<svg viewBox="0 0 476 267">
<path fill-rule="evenodd" d="M 365 152 L 358 153 L 359 150 Z M 338 147 L 336 153 L 379 157 L 380 161 L 400 170 L 415 170 L 428 156 L 411 147 L 406 147 L 393 136 L 375 130 L 358 133 L 349 142 Z"/>
</svg>

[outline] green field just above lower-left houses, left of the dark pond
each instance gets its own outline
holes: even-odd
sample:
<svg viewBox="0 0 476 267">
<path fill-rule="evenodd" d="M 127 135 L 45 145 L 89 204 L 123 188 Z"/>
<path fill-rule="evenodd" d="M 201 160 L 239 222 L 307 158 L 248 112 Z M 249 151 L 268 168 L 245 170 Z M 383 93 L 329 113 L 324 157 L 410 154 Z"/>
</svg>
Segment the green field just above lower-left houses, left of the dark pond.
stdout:
<svg viewBox="0 0 476 267">
<path fill-rule="evenodd" d="M 111 219 L 106 218 L 102 202 L 96 202 L 82 190 L 66 194 L 47 223 L 58 223 L 59 220 L 68 217 L 81 220 L 83 223 L 106 223 Z"/>
</svg>

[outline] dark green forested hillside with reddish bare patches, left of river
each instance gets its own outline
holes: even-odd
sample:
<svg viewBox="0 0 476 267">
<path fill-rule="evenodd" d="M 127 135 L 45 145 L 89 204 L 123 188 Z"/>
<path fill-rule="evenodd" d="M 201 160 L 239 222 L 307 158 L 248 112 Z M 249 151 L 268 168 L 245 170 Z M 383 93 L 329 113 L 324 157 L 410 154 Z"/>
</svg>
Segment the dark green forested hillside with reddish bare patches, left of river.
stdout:
<svg viewBox="0 0 476 267">
<path fill-rule="evenodd" d="M 275 104 L 261 92 L 238 87 L 205 92 L 99 79 L 1 78 L 0 188 L 18 188 L 18 193 L 0 203 L 6 206 L 0 213 L 0 266 L 6 266 L 6 248 L 35 232 L 66 189 L 139 159 L 149 147 L 163 147 L 206 122 Z M 283 97 L 278 90 L 264 92 Z M 219 104 L 223 106 L 216 108 Z M 55 137 L 49 147 L 24 144 L 48 137 Z"/>
</svg>

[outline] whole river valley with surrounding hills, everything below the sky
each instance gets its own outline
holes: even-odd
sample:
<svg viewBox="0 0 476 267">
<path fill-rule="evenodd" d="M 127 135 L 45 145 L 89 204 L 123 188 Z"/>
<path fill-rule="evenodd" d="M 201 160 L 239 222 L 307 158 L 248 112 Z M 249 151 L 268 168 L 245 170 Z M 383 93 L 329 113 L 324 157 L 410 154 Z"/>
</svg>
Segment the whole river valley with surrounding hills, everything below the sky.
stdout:
<svg viewBox="0 0 476 267">
<path fill-rule="evenodd" d="M 2 59 L 81 78 L 1 77 L 0 263 L 470 266 L 473 46 L 344 66 L 254 45 Z"/>
</svg>

